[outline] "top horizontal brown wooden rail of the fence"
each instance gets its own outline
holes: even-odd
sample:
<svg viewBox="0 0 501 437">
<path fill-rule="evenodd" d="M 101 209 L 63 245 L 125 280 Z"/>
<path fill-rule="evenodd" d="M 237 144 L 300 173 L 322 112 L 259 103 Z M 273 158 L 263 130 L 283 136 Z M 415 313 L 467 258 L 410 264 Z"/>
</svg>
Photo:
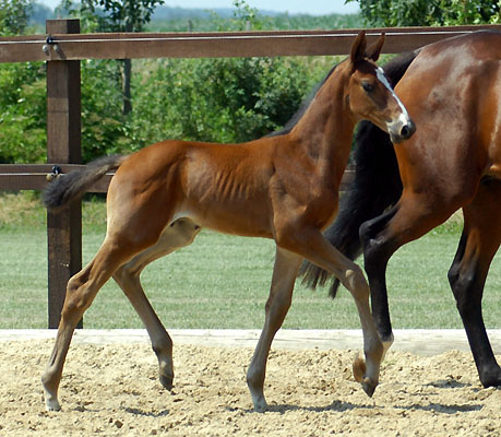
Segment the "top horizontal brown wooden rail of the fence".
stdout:
<svg viewBox="0 0 501 437">
<path fill-rule="evenodd" d="M 384 51 L 398 54 L 480 28 L 501 29 L 501 25 L 370 28 L 367 36 L 370 43 L 384 32 Z M 55 33 L 3 37 L 0 62 L 347 55 L 358 32 Z"/>
</svg>

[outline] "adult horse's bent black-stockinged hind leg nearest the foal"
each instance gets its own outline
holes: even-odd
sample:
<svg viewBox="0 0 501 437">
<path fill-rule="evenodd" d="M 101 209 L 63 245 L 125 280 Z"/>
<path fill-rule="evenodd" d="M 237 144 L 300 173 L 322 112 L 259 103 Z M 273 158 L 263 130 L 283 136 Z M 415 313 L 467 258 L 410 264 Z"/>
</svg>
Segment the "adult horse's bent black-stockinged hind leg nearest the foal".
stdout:
<svg viewBox="0 0 501 437">
<path fill-rule="evenodd" d="M 393 253 L 443 223 L 455 208 L 434 201 L 429 192 L 407 196 L 384 214 L 360 226 L 365 269 L 369 280 L 372 316 L 383 341 L 384 353 L 393 343 L 387 306 L 386 267 Z"/>
</svg>

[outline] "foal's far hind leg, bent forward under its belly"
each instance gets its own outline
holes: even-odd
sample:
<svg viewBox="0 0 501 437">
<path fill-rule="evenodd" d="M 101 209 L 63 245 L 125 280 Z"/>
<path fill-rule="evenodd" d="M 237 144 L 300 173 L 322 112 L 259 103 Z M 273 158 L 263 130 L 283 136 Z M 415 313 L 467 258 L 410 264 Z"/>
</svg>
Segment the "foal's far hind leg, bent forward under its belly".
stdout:
<svg viewBox="0 0 501 437">
<path fill-rule="evenodd" d="M 174 380 L 172 340 L 144 294 L 140 274 L 147 264 L 156 259 L 193 243 L 200 229 L 200 226 L 191 220 L 179 218 L 166 227 L 155 246 L 136 255 L 114 275 L 147 330 L 153 351 L 158 358 L 160 382 L 168 390 L 172 388 Z"/>
</svg>

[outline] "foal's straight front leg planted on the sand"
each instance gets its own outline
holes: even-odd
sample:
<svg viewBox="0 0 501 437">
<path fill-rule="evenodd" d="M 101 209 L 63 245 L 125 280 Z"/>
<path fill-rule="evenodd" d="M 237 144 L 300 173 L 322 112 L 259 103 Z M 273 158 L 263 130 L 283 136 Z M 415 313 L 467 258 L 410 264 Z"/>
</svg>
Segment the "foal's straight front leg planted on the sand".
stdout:
<svg viewBox="0 0 501 437">
<path fill-rule="evenodd" d="M 257 411 L 267 409 L 263 393 L 266 361 L 276 331 L 282 327 L 293 299 L 294 283 L 301 258 L 279 247 L 276 248 L 270 297 L 265 306 L 263 331 L 247 370 L 247 385 Z"/>
</svg>

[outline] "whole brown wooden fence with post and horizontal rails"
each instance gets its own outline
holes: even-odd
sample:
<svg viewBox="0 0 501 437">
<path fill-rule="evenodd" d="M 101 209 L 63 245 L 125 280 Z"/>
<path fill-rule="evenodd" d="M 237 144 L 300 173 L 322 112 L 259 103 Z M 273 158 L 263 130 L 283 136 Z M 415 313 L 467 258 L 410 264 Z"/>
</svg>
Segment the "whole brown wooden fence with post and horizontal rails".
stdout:
<svg viewBox="0 0 501 437">
<path fill-rule="evenodd" d="M 398 27 L 367 31 L 369 43 L 386 34 L 384 51 L 398 54 L 451 36 L 501 25 Z M 347 55 L 358 29 L 80 34 L 79 20 L 49 20 L 46 35 L 0 38 L 0 62 L 47 61 L 46 165 L 0 165 L 0 190 L 41 190 L 52 165 L 63 173 L 81 163 L 81 78 L 84 59 L 219 58 Z M 112 175 L 92 188 L 105 192 Z M 81 202 L 47 214 L 48 327 L 57 328 L 68 280 L 82 268 Z"/>
</svg>

